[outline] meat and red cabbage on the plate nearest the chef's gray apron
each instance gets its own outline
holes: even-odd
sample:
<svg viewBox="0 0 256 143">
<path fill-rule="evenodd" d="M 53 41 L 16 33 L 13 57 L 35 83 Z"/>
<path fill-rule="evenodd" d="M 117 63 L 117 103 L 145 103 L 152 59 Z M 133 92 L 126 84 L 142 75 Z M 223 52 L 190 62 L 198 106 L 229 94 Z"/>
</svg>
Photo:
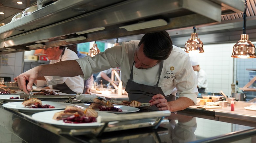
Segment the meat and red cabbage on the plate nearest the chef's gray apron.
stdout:
<svg viewBox="0 0 256 143">
<path fill-rule="evenodd" d="M 114 107 L 111 102 L 104 102 L 95 98 L 94 102 L 90 104 L 90 109 L 99 109 L 99 111 L 112 111 L 112 112 L 122 112 L 122 109 Z"/>
</svg>

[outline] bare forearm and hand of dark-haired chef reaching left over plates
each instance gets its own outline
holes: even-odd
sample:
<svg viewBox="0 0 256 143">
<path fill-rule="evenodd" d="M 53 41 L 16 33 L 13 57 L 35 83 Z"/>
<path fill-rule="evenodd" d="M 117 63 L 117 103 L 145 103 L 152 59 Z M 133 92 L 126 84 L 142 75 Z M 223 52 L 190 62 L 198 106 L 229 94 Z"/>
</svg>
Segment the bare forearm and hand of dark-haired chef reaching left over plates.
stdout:
<svg viewBox="0 0 256 143">
<path fill-rule="evenodd" d="M 72 77 L 82 75 L 83 71 L 76 60 L 61 61 L 50 65 L 41 65 L 26 71 L 19 76 L 15 77 L 14 80 L 18 81 L 20 89 L 23 91 L 31 90 L 33 83 L 40 76 L 61 76 L 61 77 Z M 26 80 L 29 81 L 26 87 Z"/>
</svg>

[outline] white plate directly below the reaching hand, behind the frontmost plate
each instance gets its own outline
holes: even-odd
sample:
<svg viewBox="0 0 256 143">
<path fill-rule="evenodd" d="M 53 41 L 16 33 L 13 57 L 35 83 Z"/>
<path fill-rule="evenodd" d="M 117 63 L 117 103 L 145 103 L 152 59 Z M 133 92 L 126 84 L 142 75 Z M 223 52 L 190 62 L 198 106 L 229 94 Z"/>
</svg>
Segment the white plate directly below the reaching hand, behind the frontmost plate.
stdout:
<svg viewBox="0 0 256 143">
<path fill-rule="evenodd" d="M 42 105 L 48 104 L 48 105 L 54 106 L 55 108 L 25 108 L 21 103 L 23 102 L 5 103 L 3 104 L 3 106 L 6 108 L 17 109 L 21 112 L 29 112 L 29 113 L 36 113 L 36 112 L 49 111 L 49 110 L 59 110 L 59 109 L 65 109 L 66 106 L 74 106 L 74 104 L 71 104 L 71 103 L 42 101 Z"/>
</svg>

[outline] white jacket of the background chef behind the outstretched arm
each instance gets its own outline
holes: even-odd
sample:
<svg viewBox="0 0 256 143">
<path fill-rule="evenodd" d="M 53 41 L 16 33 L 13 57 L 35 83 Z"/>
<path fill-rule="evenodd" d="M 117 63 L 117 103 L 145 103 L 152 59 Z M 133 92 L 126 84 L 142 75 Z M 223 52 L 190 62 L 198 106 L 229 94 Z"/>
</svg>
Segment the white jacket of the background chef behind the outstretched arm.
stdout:
<svg viewBox="0 0 256 143">
<path fill-rule="evenodd" d="M 65 52 L 64 52 L 64 55 L 62 57 L 60 56 L 59 59 L 57 59 L 57 60 L 51 60 L 50 64 L 54 64 L 56 62 L 59 62 L 60 58 L 61 58 L 61 61 L 66 61 L 66 60 L 78 59 L 78 56 L 76 55 L 75 52 L 66 48 Z M 67 67 L 67 68 L 69 68 L 69 67 Z M 47 81 L 47 85 L 57 85 L 57 84 L 63 84 L 65 82 L 65 84 L 72 91 L 74 91 L 76 93 L 83 93 L 84 81 L 80 76 L 74 76 L 74 77 L 44 76 L 44 77 Z"/>
</svg>

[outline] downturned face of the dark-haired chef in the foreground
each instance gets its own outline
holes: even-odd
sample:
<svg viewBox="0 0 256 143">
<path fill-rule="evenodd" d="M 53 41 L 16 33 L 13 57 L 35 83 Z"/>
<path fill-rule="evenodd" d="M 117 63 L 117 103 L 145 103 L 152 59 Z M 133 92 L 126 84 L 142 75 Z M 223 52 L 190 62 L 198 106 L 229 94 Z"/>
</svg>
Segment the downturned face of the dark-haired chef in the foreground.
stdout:
<svg viewBox="0 0 256 143">
<path fill-rule="evenodd" d="M 158 60 L 154 60 L 146 57 L 145 54 L 143 53 L 143 47 L 144 47 L 144 44 L 141 44 L 135 51 L 135 54 L 133 57 L 135 62 L 135 67 L 137 69 L 147 69 L 147 68 L 154 67 L 158 63 Z"/>
</svg>

